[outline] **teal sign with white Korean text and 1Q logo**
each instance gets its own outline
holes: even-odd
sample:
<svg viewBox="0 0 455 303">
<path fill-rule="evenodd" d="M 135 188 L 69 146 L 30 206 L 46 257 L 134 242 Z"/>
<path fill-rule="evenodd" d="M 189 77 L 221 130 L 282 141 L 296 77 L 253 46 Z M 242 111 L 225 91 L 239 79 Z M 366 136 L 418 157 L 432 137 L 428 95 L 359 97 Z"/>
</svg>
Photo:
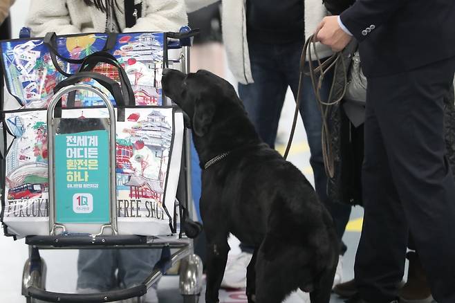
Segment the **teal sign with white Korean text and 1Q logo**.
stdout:
<svg viewBox="0 0 455 303">
<path fill-rule="evenodd" d="M 55 135 L 57 223 L 109 223 L 109 133 Z"/>
</svg>

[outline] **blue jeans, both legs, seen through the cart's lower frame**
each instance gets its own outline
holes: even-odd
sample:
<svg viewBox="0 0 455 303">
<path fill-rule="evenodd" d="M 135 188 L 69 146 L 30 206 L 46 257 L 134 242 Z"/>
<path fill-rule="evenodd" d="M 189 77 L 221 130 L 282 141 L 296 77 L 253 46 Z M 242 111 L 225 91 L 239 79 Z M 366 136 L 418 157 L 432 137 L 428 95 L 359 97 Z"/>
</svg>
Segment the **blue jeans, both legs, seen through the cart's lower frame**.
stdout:
<svg viewBox="0 0 455 303">
<path fill-rule="evenodd" d="M 151 274 L 160 257 L 159 249 L 80 250 L 77 288 L 111 291 L 136 286 Z"/>
</svg>

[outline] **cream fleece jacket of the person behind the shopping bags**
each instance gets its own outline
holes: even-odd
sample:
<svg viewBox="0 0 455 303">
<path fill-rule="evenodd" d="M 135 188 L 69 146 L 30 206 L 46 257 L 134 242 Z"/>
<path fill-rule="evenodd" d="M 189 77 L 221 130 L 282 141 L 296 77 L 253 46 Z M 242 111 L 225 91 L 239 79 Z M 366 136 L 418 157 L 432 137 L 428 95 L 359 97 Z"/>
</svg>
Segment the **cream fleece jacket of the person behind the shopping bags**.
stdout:
<svg viewBox="0 0 455 303">
<path fill-rule="evenodd" d="M 125 0 L 132 1 L 132 0 Z M 184 0 L 134 0 L 142 3 L 142 17 L 135 26 L 125 28 L 124 1 L 115 9 L 122 33 L 147 31 L 178 31 L 187 25 Z M 48 32 L 57 35 L 99 33 L 106 29 L 106 13 L 84 0 L 32 0 L 26 24 L 33 37 L 44 37 Z"/>
</svg>

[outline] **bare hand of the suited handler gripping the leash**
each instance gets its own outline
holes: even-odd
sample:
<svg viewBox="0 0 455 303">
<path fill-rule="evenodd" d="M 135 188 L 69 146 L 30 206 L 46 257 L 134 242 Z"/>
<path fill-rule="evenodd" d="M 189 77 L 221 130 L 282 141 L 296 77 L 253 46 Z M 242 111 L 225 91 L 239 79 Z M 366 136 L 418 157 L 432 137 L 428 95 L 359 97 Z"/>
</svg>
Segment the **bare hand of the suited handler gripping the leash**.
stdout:
<svg viewBox="0 0 455 303">
<path fill-rule="evenodd" d="M 338 16 L 322 19 L 315 33 L 316 41 L 325 44 L 338 52 L 351 42 L 352 36 L 348 35 L 338 24 Z"/>
</svg>

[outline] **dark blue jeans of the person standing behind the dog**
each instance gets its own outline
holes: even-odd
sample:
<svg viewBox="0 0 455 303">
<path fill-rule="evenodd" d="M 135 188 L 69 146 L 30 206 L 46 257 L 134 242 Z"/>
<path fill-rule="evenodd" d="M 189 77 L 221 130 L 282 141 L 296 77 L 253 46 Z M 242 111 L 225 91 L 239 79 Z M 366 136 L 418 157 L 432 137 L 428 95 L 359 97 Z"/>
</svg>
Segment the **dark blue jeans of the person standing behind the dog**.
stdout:
<svg viewBox="0 0 455 303">
<path fill-rule="evenodd" d="M 239 97 L 245 104 L 250 120 L 259 136 L 270 147 L 275 147 L 278 122 L 288 86 L 297 98 L 299 87 L 299 64 L 303 43 L 261 44 L 249 43 L 252 84 L 239 84 Z M 306 64 L 308 67 L 308 64 Z M 322 98 L 326 100 L 333 75 L 326 76 L 322 84 Z M 346 223 L 349 221 L 351 206 L 331 201 L 327 196 L 327 176 L 322 158 L 322 118 L 313 93 L 310 77 L 304 77 L 304 90 L 301 93 L 300 114 L 304 122 L 310 165 L 315 176 L 315 190 L 331 213 L 340 240 Z M 344 253 L 343 245 L 340 253 Z"/>
</svg>

